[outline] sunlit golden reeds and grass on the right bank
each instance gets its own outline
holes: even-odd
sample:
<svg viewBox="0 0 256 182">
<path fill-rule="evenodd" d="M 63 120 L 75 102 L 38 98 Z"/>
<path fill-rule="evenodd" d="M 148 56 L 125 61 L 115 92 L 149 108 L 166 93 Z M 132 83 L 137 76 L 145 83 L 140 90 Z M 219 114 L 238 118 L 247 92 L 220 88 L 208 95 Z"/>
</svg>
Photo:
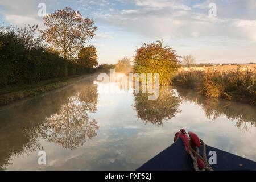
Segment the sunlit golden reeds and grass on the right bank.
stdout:
<svg viewBox="0 0 256 182">
<path fill-rule="evenodd" d="M 204 96 L 256 105 L 256 77 L 253 70 L 181 71 L 173 82 L 183 88 L 195 89 Z"/>
</svg>

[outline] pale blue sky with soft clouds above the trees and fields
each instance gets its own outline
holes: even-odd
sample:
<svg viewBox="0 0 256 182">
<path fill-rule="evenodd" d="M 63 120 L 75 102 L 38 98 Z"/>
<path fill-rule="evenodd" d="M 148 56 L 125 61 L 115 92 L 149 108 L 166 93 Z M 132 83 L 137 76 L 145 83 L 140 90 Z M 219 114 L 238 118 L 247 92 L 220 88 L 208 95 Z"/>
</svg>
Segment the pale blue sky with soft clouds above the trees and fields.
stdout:
<svg viewBox="0 0 256 182">
<path fill-rule="evenodd" d="M 43 29 L 39 3 L 47 14 L 69 6 L 93 19 L 98 30 L 88 44 L 100 64 L 133 59 L 137 47 L 156 40 L 196 63 L 256 62 L 255 0 L 0 0 L 0 22 Z"/>
</svg>

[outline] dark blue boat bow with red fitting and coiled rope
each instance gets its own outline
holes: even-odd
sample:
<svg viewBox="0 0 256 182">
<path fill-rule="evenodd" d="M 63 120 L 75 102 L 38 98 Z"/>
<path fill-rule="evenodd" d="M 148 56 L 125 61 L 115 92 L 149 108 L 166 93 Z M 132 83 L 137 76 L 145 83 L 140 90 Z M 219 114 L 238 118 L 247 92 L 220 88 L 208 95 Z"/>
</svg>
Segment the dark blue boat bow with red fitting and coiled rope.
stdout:
<svg viewBox="0 0 256 182">
<path fill-rule="evenodd" d="M 203 157 L 199 158 L 195 153 Z M 189 132 L 188 136 L 185 130 L 182 129 L 175 134 L 174 143 L 171 146 L 148 160 L 148 162 L 144 163 L 137 170 L 192 171 L 195 169 L 255 171 L 256 162 L 208 146 L 195 133 Z"/>
</svg>

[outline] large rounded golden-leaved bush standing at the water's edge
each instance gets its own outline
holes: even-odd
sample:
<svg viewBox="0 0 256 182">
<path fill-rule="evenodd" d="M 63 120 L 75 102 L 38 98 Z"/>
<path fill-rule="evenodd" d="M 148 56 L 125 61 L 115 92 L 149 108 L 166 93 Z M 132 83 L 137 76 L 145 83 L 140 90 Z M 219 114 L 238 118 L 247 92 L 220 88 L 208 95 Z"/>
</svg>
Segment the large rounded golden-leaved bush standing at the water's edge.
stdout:
<svg viewBox="0 0 256 182">
<path fill-rule="evenodd" d="M 157 43 L 144 43 L 137 48 L 134 57 L 134 71 L 136 73 L 158 73 L 159 85 L 170 84 L 174 72 L 179 68 L 180 61 L 176 51 L 169 46 Z"/>
</svg>

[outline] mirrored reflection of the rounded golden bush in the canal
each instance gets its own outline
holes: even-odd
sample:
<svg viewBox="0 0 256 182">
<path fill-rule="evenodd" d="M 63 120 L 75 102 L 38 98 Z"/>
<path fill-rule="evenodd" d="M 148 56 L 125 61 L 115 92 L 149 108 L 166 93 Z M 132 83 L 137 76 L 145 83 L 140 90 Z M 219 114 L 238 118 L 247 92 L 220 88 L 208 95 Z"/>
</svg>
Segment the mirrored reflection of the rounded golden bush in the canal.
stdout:
<svg viewBox="0 0 256 182">
<path fill-rule="evenodd" d="M 148 100 L 148 94 L 134 94 L 134 107 L 138 118 L 147 124 L 148 122 L 160 126 L 163 120 L 175 117 L 180 112 L 178 107 L 181 100 L 175 96 L 170 86 L 160 86 L 159 96 L 156 100 Z"/>
</svg>

